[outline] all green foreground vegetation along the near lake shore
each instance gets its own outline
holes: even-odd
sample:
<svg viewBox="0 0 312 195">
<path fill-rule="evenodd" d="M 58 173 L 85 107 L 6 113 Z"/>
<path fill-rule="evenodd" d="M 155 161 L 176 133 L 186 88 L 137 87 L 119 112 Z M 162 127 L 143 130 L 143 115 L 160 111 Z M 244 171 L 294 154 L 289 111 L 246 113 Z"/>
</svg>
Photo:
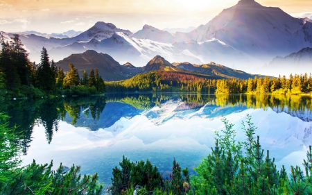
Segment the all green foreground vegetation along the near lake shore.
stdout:
<svg viewBox="0 0 312 195">
<path fill-rule="evenodd" d="M 0 194 L 101 194 L 103 185 L 98 175 L 80 176 L 79 166 L 60 164 L 52 171 L 51 164 L 20 167 L 22 147 L 19 135 L 8 128 L 6 115 L 0 114 Z M 130 162 L 123 157 L 112 169 L 111 194 L 311 194 L 312 151 L 306 153 L 304 170 L 285 167 L 277 170 L 269 151 L 264 153 L 255 137 L 257 128 L 248 116 L 243 123 L 243 142 L 236 141 L 236 130 L 223 119 L 225 129 L 216 132 L 216 146 L 196 167 L 196 176 L 189 176 L 173 159 L 169 178 L 163 178 L 148 160 Z"/>
</svg>

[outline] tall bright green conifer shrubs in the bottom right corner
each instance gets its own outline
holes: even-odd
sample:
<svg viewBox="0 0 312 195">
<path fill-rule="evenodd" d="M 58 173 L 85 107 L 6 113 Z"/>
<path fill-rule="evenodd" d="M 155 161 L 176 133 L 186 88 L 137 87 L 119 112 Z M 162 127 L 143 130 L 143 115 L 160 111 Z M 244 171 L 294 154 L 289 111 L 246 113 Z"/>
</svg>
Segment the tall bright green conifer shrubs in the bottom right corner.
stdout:
<svg viewBox="0 0 312 195">
<path fill-rule="evenodd" d="M 216 146 L 212 153 L 196 167 L 197 175 L 191 178 L 196 194 L 311 194 L 311 146 L 304 160 L 305 174 L 300 167 L 291 167 L 287 175 L 284 167 L 277 171 L 275 159 L 269 151 L 263 155 L 256 127 L 248 115 L 243 123 L 245 142 L 235 140 L 236 131 L 223 119 L 225 130 L 216 132 Z"/>
</svg>

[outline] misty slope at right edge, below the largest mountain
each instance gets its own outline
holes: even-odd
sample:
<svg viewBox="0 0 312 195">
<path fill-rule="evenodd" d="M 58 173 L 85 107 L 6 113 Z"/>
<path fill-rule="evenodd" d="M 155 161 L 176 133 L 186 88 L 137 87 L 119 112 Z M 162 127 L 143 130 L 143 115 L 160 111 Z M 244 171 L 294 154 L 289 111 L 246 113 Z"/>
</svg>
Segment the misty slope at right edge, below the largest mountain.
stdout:
<svg viewBox="0 0 312 195">
<path fill-rule="evenodd" d="M 274 58 L 266 69 L 281 71 L 282 75 L 302 74 L 312 72 L 312 48 L 306 47 L 288 56 Z"/>
</svg>

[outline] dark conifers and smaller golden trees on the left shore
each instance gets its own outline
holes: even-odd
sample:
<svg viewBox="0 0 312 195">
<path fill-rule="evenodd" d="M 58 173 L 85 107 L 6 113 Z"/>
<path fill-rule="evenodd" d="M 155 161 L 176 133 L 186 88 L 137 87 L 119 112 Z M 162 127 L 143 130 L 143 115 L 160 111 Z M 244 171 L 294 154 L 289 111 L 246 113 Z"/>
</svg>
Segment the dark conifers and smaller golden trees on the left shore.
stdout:
<svg viewBox="0 0 312 195">
<path fill-rule="evenodd" d="M 49 54 L 43 47 L 40 63 L 30 62 L 28 53 L 21 43 L 19 35 L 5 42 L 1 37 L 0 53 L 0 95 L 1 96 L 46 96 L 47 94 L 96 94 L 105 92 L 105 83 L 98 69 L 83 72 L 80 78 L 78 70 L 69 64 L 69 71 L 55 66 L 49 60 Z"/>
</svg>

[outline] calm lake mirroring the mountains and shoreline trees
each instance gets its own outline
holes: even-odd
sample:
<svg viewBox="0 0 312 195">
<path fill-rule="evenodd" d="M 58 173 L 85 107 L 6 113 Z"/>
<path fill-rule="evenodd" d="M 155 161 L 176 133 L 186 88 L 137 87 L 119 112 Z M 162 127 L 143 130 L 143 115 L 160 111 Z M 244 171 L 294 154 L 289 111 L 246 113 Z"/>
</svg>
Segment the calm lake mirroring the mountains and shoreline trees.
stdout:
<svg viewBox="0 0 312 195">
<path fill-rule="evenodd" d="M 229 119 L 241 132 L 246 115 L 278 167 L 300 165 L 312 145 L 311 96 L 119 94 L 77 99 L 8 101 L 0 105 L 23 135 L 24 164 L 62 162 L 99 173 L 110 184 L 122 156 L 150 160 L 168 175 L 173 158 L 193 168 L 214 146 L 214 132 Z"/>
</svg>

